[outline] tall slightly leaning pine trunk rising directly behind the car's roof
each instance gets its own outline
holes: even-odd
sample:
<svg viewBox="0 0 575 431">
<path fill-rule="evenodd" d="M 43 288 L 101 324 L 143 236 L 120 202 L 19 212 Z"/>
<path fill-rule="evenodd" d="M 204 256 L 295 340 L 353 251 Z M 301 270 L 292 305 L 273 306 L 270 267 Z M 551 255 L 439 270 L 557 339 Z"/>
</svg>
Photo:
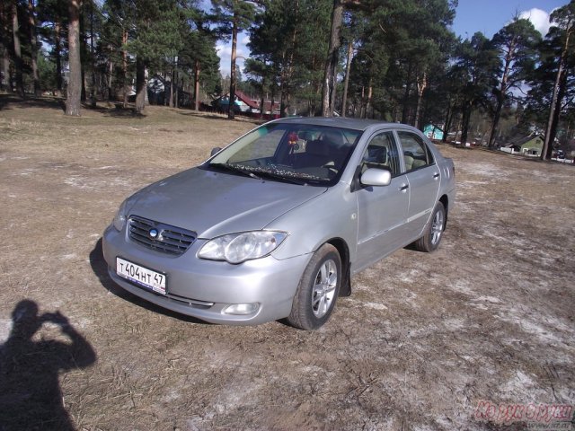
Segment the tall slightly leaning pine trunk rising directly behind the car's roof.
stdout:
<svg viewBox="0 0 575 431">
<path fill-rule="evenodd" d="M 325 59 L 322 89 L 322 116 L 333 116 L 333 93 L 335 92 L 335 71 L 338 65 L 338 52 L 341 45 L 340 30 L 343 19 L 343 1 L 333 0 L 332 30 L 330 32 L 330 45 Z"/>
</svg>

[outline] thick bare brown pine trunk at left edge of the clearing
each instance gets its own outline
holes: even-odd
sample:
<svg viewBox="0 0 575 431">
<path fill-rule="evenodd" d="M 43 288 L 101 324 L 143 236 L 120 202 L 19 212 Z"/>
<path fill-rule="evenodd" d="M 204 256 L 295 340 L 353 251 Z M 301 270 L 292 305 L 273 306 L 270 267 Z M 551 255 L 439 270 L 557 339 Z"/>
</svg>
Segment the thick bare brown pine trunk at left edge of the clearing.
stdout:
<svg viewBox="0 0 575 431">
<path fill-rule="evenodd" d="M 66 94 L 66 115 L 80 115 L 82 97 L 82 61 L 80 58 L 80 0 L 69 0 L 68 62 L 70 74 Z"/>
</svg>

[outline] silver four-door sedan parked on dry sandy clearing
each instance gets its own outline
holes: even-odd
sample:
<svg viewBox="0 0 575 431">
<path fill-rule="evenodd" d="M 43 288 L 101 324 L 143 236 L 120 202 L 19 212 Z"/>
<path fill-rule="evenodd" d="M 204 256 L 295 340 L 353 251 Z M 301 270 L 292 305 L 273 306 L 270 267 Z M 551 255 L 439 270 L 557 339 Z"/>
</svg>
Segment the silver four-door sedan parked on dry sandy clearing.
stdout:
<svg viewBox="0 0 575 431">
<path fill-rule="evenodd" d="M 409 126 L 279 119 L 127 198 L 104 258 L 119 286 L 166 309 L 314 330 L 353 274 L 411 243 L 438 248 L 454 177 Z"/>
</svg>

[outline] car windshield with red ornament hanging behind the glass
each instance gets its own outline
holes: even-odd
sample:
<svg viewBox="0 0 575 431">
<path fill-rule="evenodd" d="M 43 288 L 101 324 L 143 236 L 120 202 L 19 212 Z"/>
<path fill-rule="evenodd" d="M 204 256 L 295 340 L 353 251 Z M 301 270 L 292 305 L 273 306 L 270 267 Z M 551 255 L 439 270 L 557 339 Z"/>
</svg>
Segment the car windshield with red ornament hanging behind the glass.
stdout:
<svg viewBox="0 0 575 431">
<path fill-rule="evenodd" d="M 296 184 L 332 185 L 340 179 L 360 130 L 271 123 L 229 145 L 210 169 Z"/>
</svg>

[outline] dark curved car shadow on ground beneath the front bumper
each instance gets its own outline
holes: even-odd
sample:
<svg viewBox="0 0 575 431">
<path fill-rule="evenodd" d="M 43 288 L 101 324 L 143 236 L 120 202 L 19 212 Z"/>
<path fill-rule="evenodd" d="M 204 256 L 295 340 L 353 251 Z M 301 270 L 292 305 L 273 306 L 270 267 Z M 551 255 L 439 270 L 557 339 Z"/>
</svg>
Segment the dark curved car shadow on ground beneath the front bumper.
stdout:
<svg viewBox="0 0 575 431">
<path fill-rule="evenodd" d="M 164 316 L 172 317 L 173 319 L 178 319 L 179 321 L 188 321 L 190 323 L 199 323 L 202 325 L 211 325 L 206 321 L 200 321 L 191 316 L 186 316 L 179 312 L 172 312 L 171 310 L 164 309 L 155 303 L 148 303 L 147 301 L 139 298 L 136 295 L 130 294 L 128 291 L 122 289 L 116 283 L 113 282 L 110 275 L 108 274 L 108 264 L 104 260 L 102 252 L 102 238 L 100 238 L 94 245 L 93 251 L 90 252 L 90 266 L 92 267 L 93 273 L 98 277 L 102 286 L 110 292 L 112 295 L 116 295 L 119 298 L 133 303 L 139 307 L 145 308 L 150 312 L 157 312 L 164 314 Z M 1 428 L 0 428 L 1 429 Z"/>
</svg>

